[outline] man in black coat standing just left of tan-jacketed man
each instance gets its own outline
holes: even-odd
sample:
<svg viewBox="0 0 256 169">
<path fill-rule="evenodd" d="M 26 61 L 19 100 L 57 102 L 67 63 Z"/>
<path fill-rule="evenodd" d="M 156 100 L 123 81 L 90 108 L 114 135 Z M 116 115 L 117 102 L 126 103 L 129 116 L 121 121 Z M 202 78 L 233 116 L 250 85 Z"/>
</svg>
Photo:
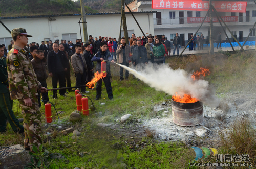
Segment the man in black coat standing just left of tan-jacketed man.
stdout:
<svg viewBox="0 0 256 169">
<path fill-rule="evenodd" d="M 50 77 L 52 77 L 52 88 L 66 87 L 65 71 L 68 70 L 69 61 L 64 52 L 59 50 L 59 44 L 53 43 L 53 51 L 47 55 L 47 66 Z M 66 89 L 59 90 L 59 94 L 65 96 Z M 53 91 L 53 98 L 57 99 L 57 91 Z"/>
</svg>

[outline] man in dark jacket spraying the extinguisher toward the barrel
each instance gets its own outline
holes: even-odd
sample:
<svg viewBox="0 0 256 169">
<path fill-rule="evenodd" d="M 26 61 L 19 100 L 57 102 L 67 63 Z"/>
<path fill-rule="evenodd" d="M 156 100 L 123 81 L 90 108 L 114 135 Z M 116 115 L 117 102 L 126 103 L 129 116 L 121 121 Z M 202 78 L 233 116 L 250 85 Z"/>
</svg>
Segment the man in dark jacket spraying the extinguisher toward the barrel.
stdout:
<svg viewBox="0 0 256 169">
<path fill-rule="evenodd" d="M 99 73 L 101 72 L 101 62 L 104 60 L 109 60 L 114 63 L 113 57 L 111 56 L 110 52 L 107 51 L 108 45 L 105 42 L 100 43 L 100 50 L 94 55 L 92 61 L 96 61 L 96 71 Z M 106 92 L 108 93 L 109 99 L 113 99 L 113 92 L 111 87 L 110 81 L 110 62 L 106 62 L 106 77 L 102 78 L 104 80 L 106 86 Z M 102 79 L 97 82 L 96 86 L 96 98 L 95 100 L 99 100 L 101 98 L 101 86 L 102 86 Z"/>
</svg>

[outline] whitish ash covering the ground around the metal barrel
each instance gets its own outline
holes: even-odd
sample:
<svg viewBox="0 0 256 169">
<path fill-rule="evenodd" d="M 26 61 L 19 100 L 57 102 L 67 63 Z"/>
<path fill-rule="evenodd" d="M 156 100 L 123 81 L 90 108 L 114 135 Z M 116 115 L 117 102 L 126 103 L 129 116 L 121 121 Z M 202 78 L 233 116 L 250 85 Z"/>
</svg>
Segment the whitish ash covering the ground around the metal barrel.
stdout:
<svg viewBox="0 0 256 169">
<path fill-rule="evenodd" d="M 230 127 L 237 118 L 256 120 L 256 99 L 242 96 L 240 93 L 219 93 L 222 99 L 219 107 L 204 106 L 204 121 L 200 125 L 183 127 L 173 123 L 170 101 L 154 107 L 160 113 L 156 118 L 143 120 L 142 125 L 155 131 L 154 138 L 164 141 L 182 141 L 190 146 L 211 144 L 218 146 L 220 140 L 218 132 Z M 251 99 L 250 99 L 251 98 Z M 256 128 L 255 123 L 252 124 Z"/>
</svg>

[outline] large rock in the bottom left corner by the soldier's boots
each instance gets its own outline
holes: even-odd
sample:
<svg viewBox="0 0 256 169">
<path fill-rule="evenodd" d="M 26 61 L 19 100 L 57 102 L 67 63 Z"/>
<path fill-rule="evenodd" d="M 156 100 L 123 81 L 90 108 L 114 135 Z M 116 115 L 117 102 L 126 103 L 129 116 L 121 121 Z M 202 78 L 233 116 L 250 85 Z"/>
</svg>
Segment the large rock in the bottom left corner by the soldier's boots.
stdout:
<svg viewBox="0 0 256 169">
<path fill-rule="evenodd" d="M 18 165 L 17 167 L 19 167 L 19 165 L 24 166 L 30 163 L 29 152 L 20 144 L 2 149 L 0 152 L 1 168 L 8 168 L 14 165 Z"/>
</svg>

